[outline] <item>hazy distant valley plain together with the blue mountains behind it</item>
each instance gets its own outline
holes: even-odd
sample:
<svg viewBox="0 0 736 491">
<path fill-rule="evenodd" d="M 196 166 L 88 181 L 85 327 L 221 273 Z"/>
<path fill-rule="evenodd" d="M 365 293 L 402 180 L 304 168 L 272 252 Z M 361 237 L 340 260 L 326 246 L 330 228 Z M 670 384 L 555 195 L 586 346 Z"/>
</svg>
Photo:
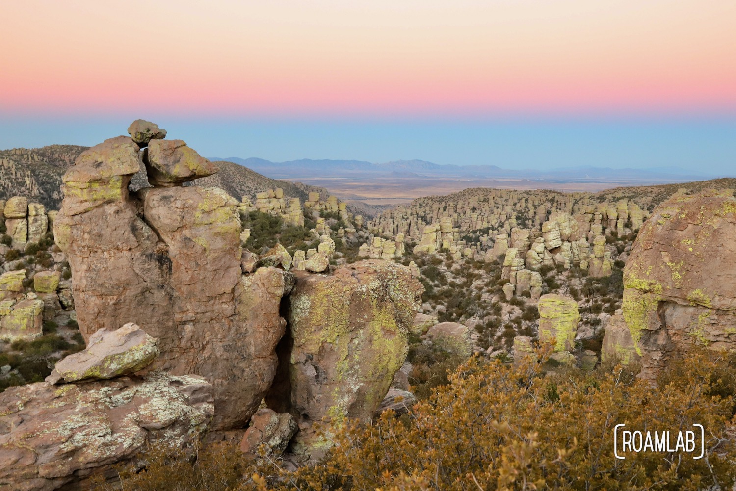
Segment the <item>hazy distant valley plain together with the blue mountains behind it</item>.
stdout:
<svg viewBox="0 0 736 491">
<path fill-rule="evenodd" d="M 424 160 L 369 163 L 361 160 L 291 160 L 271 162 L 260 158 L 211 158 L 238 163 L 274 179 L 298 180 L 328 188 L 341 199 L 372 204 L 409 202 L 422 196 L 450 194 L 465 188 L 553 189 L 601 191 L 619 186 L 683 183 L 729 177 L 707 167 L 610 169 L 592 166 L 559 169 L 501 169 L 498 166 L 438 165 Z"/>
</svg>

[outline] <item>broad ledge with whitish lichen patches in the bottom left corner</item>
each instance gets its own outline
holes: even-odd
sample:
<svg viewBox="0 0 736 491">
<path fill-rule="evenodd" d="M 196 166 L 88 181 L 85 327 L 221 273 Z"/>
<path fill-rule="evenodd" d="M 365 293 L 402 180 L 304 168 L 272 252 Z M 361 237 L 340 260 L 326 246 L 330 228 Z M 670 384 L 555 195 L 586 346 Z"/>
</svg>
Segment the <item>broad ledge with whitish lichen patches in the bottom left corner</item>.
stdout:
<svg viewBox="0 0 736 491">
<path fill-rule="evenodd" d="M 202 437 L 213 411 L 212 386 L 191 375 L 11 387 L 0 394 L 0 487 L 55 490 L 148 442 L 183 445 Z"/>
</svg>

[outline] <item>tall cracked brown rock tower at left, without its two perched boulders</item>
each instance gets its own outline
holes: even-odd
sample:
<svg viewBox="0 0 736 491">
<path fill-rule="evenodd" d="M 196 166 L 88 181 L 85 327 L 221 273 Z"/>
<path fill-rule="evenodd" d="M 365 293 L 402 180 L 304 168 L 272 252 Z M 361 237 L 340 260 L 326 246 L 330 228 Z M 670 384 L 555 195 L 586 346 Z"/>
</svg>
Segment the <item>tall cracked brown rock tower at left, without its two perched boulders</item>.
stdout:
<svg viewBox="0 0 736 491">
<path fill-rule="evenodd" d="M 71 264 L 79 328 L 88 340 L 135 322 L 159 340 L 152 368 L 208 378 L 214 428 L 242 426 L 271 384 L 293 278 L 274 268 L 241 275 L 235 199 L 194 186 L 129 194 L 138 165 L 138 146 L 118 137 L 64 177 L 54 234 Z"/>
</svg>

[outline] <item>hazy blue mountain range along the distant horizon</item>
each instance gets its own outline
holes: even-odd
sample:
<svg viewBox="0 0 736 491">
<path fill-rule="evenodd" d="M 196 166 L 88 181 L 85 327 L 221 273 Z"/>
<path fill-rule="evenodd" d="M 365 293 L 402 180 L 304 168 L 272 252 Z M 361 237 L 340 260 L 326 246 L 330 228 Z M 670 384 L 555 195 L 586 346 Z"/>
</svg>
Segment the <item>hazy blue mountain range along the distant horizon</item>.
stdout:
<svg viewBox="0 0 736 491">
<path fill-rule="evenodd" d="M 529 180 L 698 180 L 721 177 L 703 169 L 679 167 L 654 167 L 650 169 L 611 169 L 609 167 L 577 166 L 562 169 L 502 169 L 498 166 L 439 165 L 425 160 L 396 160 L 386 163 L 371 163 L 364 160 L 289 160 L 272 162 L 262 158 L 210 158 L 227 160 L 246 166 L 275 179 L 299 179 L 302 177 L 453 177 L 482 179 L 529 179 Z"/>
</svg>

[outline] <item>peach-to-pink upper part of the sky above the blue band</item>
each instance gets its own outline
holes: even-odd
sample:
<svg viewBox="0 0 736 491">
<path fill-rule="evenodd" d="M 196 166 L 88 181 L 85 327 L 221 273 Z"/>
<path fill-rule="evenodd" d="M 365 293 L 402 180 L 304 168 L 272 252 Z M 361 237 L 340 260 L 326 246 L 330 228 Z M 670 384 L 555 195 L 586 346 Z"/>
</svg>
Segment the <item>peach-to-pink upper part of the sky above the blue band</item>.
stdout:
<svg viewBox="0 0 736 491">
<path fill-rule="evenodd" d="M 0 113 L 736 112 L 733 0 L 4 1 Z"/>
</svg>

